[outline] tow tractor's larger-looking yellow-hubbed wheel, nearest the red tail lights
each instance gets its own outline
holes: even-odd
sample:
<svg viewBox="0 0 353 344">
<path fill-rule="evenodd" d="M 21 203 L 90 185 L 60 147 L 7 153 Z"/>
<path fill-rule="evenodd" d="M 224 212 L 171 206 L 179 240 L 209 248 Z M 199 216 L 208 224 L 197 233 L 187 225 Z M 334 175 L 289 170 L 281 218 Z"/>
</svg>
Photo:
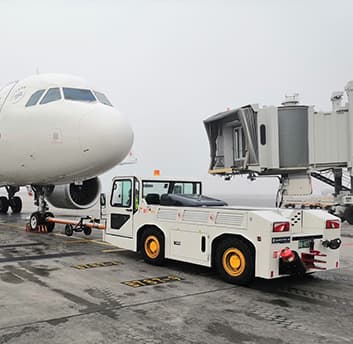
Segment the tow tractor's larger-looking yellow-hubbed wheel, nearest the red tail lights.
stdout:
<svg viewBox="0 0 353 344">
<path fill-rule="evenodd" d="M 216 247 L 215 266 L 226 282 L 248 285 L 255 277 L 255 254 L 243 240 L 227 238 Z"/>
</svg>

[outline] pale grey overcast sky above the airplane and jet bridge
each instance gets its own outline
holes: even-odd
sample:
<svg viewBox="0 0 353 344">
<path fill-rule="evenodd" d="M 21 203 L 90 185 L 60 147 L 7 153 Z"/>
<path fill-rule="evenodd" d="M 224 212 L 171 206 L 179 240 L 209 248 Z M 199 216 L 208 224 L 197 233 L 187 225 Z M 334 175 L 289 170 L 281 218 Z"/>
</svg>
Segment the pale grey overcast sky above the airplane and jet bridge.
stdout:
<svg viewBox="0 0 353 344">
<path fill-rule="evenodd" d="M 0 83 L 40 72 L 80 75 L 130 119 L 138 164 L 107 174 L 205 179 L 202 120 L 227 107 L 302 103 L 329 109 L 353 79 L 352 1 L 0 0 Z M 233 181 L 238 193 L 276 181 Z"/>
</svg>

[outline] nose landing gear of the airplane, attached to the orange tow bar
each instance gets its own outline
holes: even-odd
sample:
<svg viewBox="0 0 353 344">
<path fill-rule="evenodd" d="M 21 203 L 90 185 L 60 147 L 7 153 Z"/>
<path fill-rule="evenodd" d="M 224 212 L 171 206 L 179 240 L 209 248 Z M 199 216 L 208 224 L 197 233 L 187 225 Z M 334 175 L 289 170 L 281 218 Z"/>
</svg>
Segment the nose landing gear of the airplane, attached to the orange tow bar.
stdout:
<svg viewBox="0 0 353 344">
<path fill-rule="evenodd" d="M 31 214 L 29 219 L 29 227 L 32 231 L 44 226 L 47 232 L 51 233 L 54 230 L 55 223 L 47 222 L 48 217 L 54 217 L 54 214 L 49 212 L 48 204 L 44 197 L 43 186 L 32 186 L 35 195 L 34 204 L 38 207 L 38 211 Z M 0 200 L 1 201 L 1 200 Z"/>
</svg>

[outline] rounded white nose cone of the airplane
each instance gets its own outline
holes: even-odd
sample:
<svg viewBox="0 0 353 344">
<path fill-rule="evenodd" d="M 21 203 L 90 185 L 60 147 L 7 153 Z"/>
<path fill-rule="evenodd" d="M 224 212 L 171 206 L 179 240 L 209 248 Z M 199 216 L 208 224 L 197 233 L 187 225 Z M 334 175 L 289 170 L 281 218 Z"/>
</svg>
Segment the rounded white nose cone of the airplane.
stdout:
<svg viewBox="0 0 353 344">
<path fill-rule="evenodd" d="M 91 166 L 106 170 L 120 163 L 130 152 L 133 131 L 125 116 L 105 106 L 82 116 L 79 139 Z"/>
</svg>

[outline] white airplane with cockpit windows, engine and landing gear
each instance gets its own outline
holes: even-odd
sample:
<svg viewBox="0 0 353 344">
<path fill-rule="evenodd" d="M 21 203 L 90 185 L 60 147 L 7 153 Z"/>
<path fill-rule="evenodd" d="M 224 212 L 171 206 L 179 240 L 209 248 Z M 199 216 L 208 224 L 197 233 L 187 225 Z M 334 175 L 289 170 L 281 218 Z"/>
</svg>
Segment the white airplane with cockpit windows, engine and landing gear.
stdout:
<svg viewBox="0 0 353 344">
<path fill-rule="evenodd" d="M 100 194 L 98 175 L 119 164 L 133 144 L 133 131 L 104 93 L 82 78 L 38 74 L 0 89 L 0 213 L 22 209 L 16 196 L 30 185 L 38 210 L 31 229 L 55 207 L 85 209 Z"/>
</svg>

